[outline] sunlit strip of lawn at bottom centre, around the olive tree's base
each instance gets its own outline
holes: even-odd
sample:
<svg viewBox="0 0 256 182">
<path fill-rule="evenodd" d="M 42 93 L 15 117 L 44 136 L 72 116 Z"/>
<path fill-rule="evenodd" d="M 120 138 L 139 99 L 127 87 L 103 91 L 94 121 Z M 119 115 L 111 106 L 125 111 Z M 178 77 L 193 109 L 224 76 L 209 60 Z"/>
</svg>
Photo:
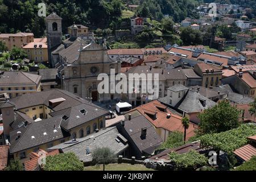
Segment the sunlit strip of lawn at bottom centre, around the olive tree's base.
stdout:
<svg viewBox="0 0 256 182">
<path fill-rule="evenodd" d="M 84 168 L 85 171 L 102 171 L 103 165 L 88 166 Z M 146 168 L 143 164 L 108 164 L 105 166 L 105 171 L 154 171 L 154 169 Z"/>
</svg>

